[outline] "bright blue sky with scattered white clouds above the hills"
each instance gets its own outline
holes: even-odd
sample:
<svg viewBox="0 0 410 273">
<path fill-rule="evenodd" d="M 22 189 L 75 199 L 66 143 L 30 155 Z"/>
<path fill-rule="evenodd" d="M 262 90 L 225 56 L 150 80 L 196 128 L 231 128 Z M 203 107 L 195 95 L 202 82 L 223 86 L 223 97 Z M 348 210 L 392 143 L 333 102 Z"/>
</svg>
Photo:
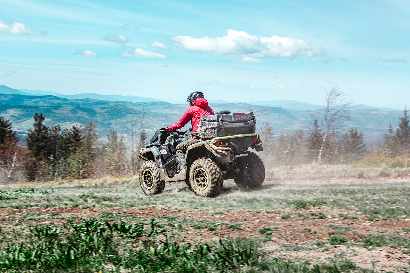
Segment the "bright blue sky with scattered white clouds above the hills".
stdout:
<svg viewBox="0 0 410 273">
<path fill-rule="evenodd" d="M 410 101 L 408 0 L 0 0 L 0 84 L 185 101 Z"/>
</svg>

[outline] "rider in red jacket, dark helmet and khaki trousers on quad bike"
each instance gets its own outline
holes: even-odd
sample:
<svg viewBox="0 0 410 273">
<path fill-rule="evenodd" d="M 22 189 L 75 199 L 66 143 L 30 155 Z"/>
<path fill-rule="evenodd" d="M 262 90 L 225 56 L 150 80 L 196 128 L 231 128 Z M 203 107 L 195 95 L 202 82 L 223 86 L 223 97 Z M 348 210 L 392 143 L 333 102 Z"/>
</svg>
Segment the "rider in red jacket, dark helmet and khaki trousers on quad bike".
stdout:
<svg viewBox="0 0 410 273">
<path fill-rule="evenodd" d="M 192 132 L 198 130 L 198 123 L 201 121 L 202 116 L 214 115 L 214 110 L 208 106 L 207 100 L 204 98 L 202 92 L 192 92 L 187 101 L 189 102 L 189 108 L 182 115 L 181 119 L 175 124 L 169 126 L 168 131 L 174 131 L 185 126 L 189 121 L 192 124 Z M 185 154 L 189 145 L 196 143 L 197 137 L 192 136 L 191 138 L 181 142 L 175 148 L 177 156 Z M 178 160 L 180 161 L 180 160 Z"/>
</svg>

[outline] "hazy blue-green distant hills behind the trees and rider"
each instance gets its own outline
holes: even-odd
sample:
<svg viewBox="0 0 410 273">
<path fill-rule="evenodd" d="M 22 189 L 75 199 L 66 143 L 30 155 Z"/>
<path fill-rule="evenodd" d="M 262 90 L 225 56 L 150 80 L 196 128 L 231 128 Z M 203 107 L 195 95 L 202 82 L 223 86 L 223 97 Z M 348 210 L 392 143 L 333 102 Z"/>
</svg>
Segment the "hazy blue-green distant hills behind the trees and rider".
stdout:
<svg viewBox="0 0 410 273">
<path fill-rule="evenodd" d="M 257 117 L 257 130 L 263 131 L 266 122 L 273 126 L 276 136 L 310 126 L 313 110 L 288 110 L 278 107 L 258 106 L 248 103 L 211 103 L 215 112 L 230 110 L 232 112 L 253 111 Z M 109 128 L 119 133 L 128 126 L 131 112 L 142 114 L 144 108 L 145 126 L 148 135 L 157 128 L 169 126 L 176 122 L 185 112 L 186 105 L 175 105 L 163 101 L 132 103 L 127 101 L 104 101 L 96 99 L 66 99 L 58 96 L 27 96 L 23 94 L 0 94 L 0 116 L 10 119 L 13 128 L 24 138 L 27 129 L 33 124 L 33 115 L 42 112 L 46 115 L 47 125 L 60 124 L 63 128 L 73 124 L 95 122 L 101 133 L 106 134 Z M 351 120 L 346 122 L 346 130 L 357 127 L 364 132 L 369 143 L 383 139 L 389 122 L 397 124 L 402 111 L 380 111 L 358 109 L 351 111 Z M 189 126 L 189 125 L 187 125 Z"/>
</svg>

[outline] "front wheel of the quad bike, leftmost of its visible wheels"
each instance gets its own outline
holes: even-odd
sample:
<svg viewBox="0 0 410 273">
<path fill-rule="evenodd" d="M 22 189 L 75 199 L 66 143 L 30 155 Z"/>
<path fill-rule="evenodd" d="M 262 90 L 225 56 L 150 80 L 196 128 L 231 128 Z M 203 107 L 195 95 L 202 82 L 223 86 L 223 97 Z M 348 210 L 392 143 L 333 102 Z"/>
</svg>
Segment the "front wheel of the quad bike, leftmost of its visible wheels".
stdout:
<svg viewBox="0 0 410 273">
<path fill-rule="evenodd" d="M 165 181 L 159 176 L 157 163 L 146 161 L 139 171 L 139 184 L 146 195 L 162 193 L 165 188 Z"/>
</svg>

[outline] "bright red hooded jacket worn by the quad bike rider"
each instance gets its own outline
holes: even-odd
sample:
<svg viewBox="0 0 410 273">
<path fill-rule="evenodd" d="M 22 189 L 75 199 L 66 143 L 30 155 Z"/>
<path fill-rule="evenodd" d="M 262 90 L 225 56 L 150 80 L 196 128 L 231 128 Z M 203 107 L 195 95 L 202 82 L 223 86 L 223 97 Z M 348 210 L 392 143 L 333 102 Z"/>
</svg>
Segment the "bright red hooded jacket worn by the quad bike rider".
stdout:
<svg viewBox="0 0 410 273">
<path fill-rule="evenodd" d="M 208 106 L 206 99 L 198 98 L 196 99 L 194 105 L 185 111 L 181 119 L 178 122 L 175 122 L 175 124 L 169 126 L 167 129 L 168 131 L 180 129 L 191 121 L 192 131 L 196 132 L 198 131 L 198 123 L 201 121 L 201 117 L 209 115 L 214 115 L 214 110 Z"/>
</svg>

